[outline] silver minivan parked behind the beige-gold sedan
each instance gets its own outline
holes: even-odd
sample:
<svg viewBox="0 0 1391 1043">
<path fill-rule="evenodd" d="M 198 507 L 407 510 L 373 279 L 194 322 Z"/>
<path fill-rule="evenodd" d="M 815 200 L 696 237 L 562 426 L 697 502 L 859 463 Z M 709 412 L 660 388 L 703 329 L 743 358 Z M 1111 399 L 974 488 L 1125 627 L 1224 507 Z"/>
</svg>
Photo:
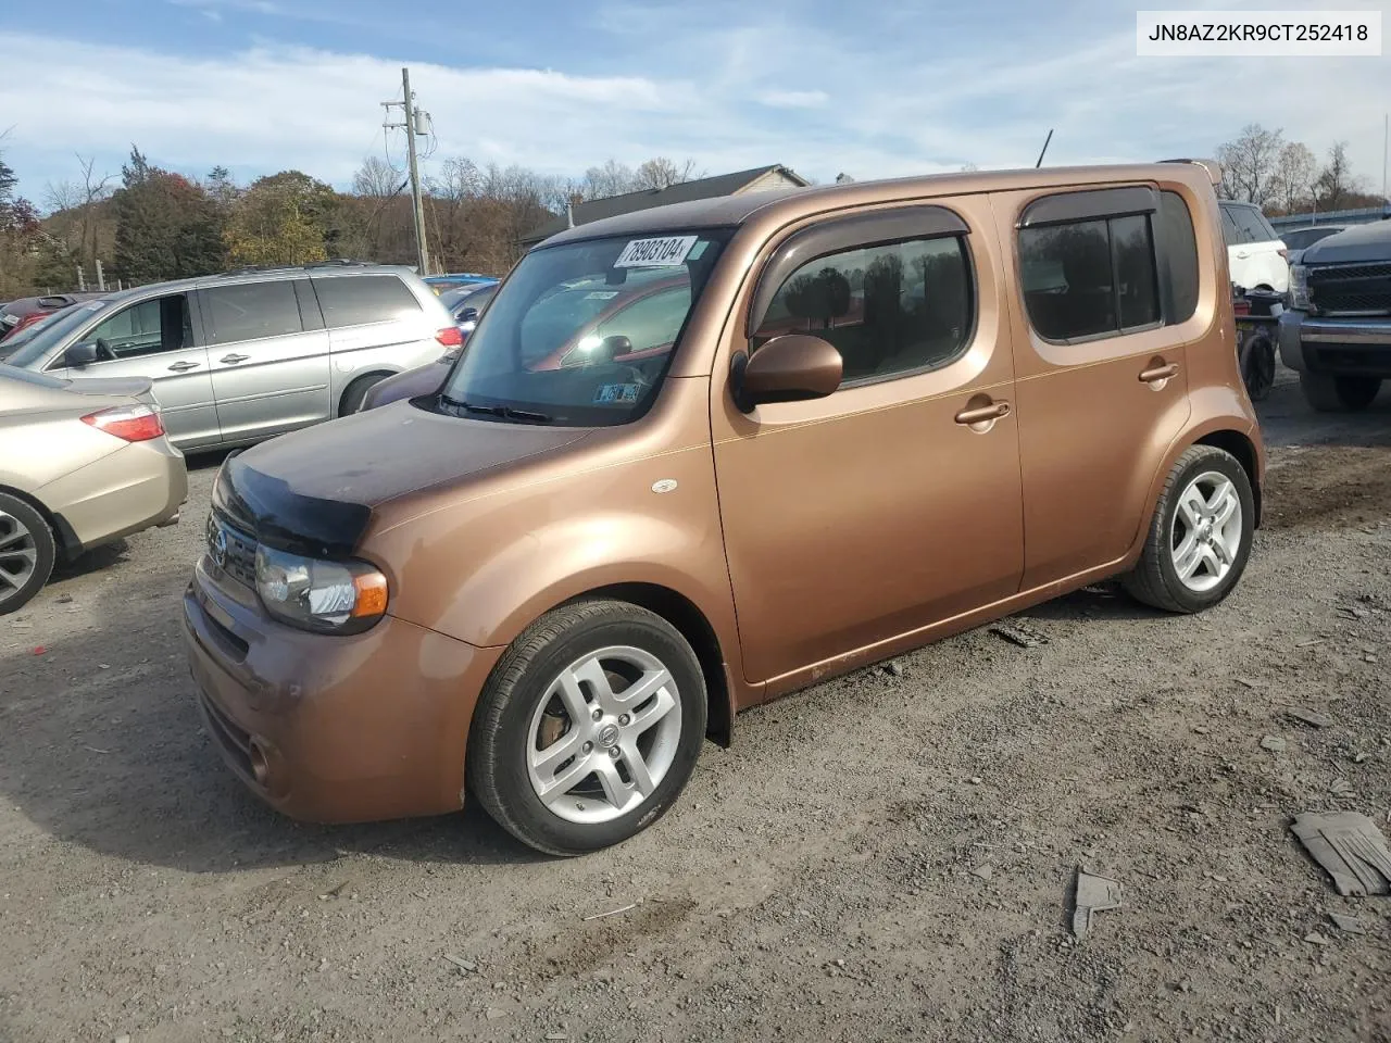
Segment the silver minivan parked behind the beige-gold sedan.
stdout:
<svg viewBox="0 0 1391 1043">
<path fill-rule="evenodd" d="M 170 441 L 195 451 L 352 413 L 378 380 L 459 342 L 410 270 L 328 263 L 89 300 L 4 362 L 54 377 L 149 377 Z"/>
</svg>

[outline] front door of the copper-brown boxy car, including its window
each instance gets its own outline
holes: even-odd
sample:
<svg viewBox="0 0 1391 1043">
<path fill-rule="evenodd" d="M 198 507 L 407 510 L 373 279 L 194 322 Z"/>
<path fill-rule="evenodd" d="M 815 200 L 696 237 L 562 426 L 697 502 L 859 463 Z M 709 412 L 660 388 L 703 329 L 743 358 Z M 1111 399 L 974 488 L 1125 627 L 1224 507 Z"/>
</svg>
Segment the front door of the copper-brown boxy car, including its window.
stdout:
<svg viewBox="0 0 1391 1043">
<path fill-rule="evenodd" d="M 925 210 L 943 211 L 914 209 Z M 819 246 L 794 234 L 764 267 L 780 285 L 732 349 L 757 353 L 790 330 L 822 337 L 844 360 L 833 395 L 746 416 L 727 366 L 716 370 L 715 469 L 750 681 L 815 677 L 819 663 L 1018 590 L 1020 449 L 993 228 L 972 200 L 946 213 L 950 231 L 929 216 L 907 241 L 912 221 L 893 211 L 812 225 Z M 789 270 L 790 257 L 811 260 Z"/>
</svg>

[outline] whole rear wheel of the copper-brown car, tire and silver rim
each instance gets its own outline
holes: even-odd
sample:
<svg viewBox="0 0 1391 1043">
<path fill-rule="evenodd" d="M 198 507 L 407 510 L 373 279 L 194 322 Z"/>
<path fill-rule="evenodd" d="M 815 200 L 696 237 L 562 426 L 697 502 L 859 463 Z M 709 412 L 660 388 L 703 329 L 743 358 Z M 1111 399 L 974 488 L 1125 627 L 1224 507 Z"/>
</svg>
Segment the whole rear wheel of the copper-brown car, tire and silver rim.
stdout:
<svg viewBox="0 0 1391 1043">
<path fill-rule="evenodd" d="M 1166 612 L 1212 608 L 1246 569 L 1255 519 L 1241 462 L 1216 446 L 1189 446 L 1164 483 L 1139 562 L 1121 577 L 1125 590 Z"/>
</svg>

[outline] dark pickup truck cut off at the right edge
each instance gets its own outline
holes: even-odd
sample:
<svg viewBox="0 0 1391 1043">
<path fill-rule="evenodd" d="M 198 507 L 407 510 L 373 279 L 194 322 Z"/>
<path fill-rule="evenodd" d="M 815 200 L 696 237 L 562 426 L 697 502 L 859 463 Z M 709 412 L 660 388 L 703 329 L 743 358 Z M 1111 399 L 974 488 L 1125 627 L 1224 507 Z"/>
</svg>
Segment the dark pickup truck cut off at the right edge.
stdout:
<svg viewBox="0 0 1391 1043">
<path fill-rule="evenodd" d="M 1280 357 L 1320 412 L 1366 409 L 1391 377 L 1391 221 L 1305 249 L 1280 316 Z"/>
</svg>

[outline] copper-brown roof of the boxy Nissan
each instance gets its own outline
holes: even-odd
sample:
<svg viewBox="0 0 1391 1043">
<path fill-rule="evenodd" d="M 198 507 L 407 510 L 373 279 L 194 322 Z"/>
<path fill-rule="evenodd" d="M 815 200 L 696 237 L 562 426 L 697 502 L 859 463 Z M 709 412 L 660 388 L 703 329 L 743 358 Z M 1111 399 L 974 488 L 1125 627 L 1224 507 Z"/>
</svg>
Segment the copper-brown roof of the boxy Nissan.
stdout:
<svg viewBox="0 0 1391 1043">
<path fill-rule="evenodd" d="M 558 232 L 533 249 L 548 249 L 566 242 L 600 239 L 611 235 L 730 228 L 754 220 L 789 223 L 842 207 L 929 199 L 932 196 L 1175 179 L 1196 186 L 1212 184 L 1213 170 L 1216 170 L 1214 165 L 1193 160 L 1107 167 L 970 171 L 883 181 L 853 181 L 840 185 L 765 189 L 736 196 L 670 203 L 605 217 Z"/>
</svg>

